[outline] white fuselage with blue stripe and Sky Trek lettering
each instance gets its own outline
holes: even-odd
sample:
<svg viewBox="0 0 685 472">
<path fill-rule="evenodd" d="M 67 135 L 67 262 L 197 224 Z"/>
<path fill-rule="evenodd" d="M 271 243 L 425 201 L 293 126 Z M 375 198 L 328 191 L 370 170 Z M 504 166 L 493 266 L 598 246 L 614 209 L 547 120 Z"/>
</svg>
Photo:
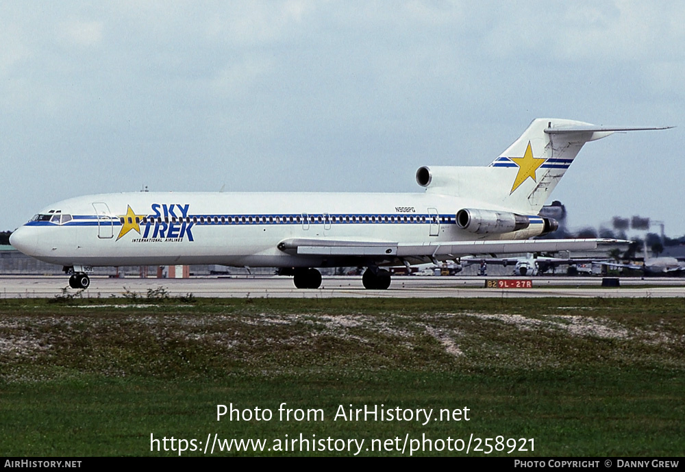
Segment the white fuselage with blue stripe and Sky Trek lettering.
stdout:
<svg viewBox="0 0 685 472">
<path fill-rule="evenodd" d="M 483 204 L 427 193 L 89 195 L 60 201 L 41 210 L 36 215 L 38 219 L 12 234 L 12 244 L 34 258 L 63 266 L 353 265 L 360 261 L 293 256 L 277 246 L 290 238 L 425 244 L 473 240 L 476 236 L 459 229 L 455 219 L 456 212 L 468 206 L 478 208 Z M 61 221 L 59 216 L 52 218 L 56 221 L 49 221 L 45 216 L 60 214 Z M 539 234 L 542 220 L 534 221 L 538 220 L 539 225 L 534 223 L 523 232 L 477 238 L 528 238 Z"/>
</svg>

